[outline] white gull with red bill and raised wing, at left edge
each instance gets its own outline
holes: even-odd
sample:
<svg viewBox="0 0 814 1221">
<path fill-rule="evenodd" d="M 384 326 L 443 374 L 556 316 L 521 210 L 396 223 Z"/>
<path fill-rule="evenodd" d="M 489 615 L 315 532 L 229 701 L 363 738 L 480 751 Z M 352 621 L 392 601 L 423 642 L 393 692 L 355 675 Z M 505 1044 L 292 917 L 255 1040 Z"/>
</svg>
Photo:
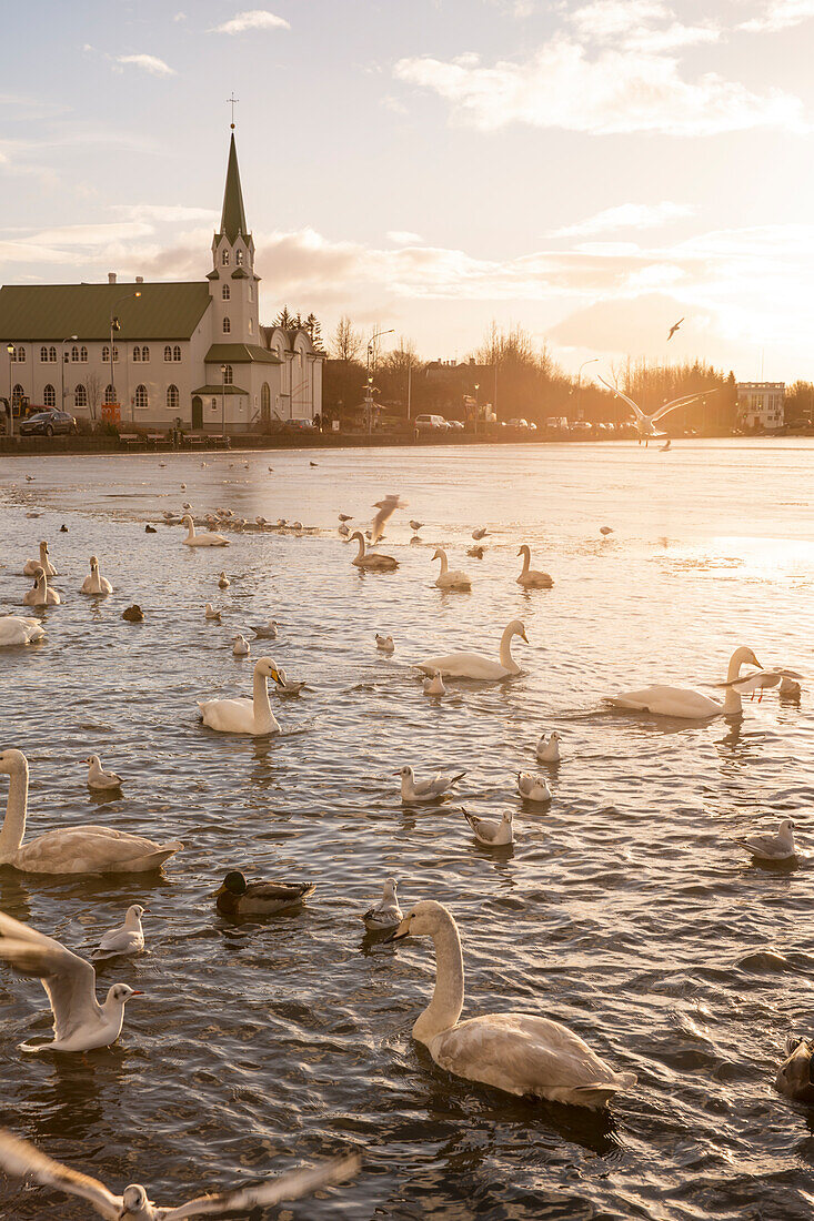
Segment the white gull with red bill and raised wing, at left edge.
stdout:
<svg viewBox="0 0 814 1221">
<path fill-rule="evenodd" d="M 103 1005 L 97 1001 L 97 973 L 84 958 L 0 912 L 0 958 L 22 976 L 38 976 L 54 1011 L 54 1039 L 21 1051 L 92 1051 L 109 1048 L 121 1034 L 125 1005 L 142 996 L 127 984 L 114 984 Z M 112 1214 L 111 1214 L 112 1215 Z"/>
</svg>

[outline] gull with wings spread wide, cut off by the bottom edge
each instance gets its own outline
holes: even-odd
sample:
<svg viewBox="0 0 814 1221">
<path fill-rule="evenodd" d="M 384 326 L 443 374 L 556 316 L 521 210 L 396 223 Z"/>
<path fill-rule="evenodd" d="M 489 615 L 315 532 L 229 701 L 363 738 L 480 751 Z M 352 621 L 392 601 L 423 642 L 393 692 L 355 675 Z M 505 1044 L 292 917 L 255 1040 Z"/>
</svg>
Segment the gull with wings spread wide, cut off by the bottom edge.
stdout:
<svg viewBox="0 0 814 1221">
<path fill-rule="evenodd" d="M 165 1208 L 149 1199 L 145 1188 L 131 1183 L 121 1195 L 114 1195 L 104 1183 L 83 1175 L 71 1166 L 62 1166 L 40 1153 L 27 1140 L 18 1140 L 5 1128 L 0 1128 L 0 1166 L 6 1175 L 34 1178 L 43 1187 L 54 1187 L 68 1195 L 78 1195 L 93 1205 L 105 1221 L 183 1221 L 186 1217 L 224 1216 L 226 1212 L 248 1216 L 263 1204 L 280 1204 L 297 1200 L 303 1195 L 331 1183 L 343 1183 L 359 1172 L 361 1160 L 356 1154 L 334 1158 L 307 1170 L 292 1170 L 286 1175 L 258 1187 L 238 1187 L 233 1192 L 216 1195 L 199 1195 L 176 1208 Z M 51 1212 L 55 1216 L 55 1212 Z"/>
</svg>

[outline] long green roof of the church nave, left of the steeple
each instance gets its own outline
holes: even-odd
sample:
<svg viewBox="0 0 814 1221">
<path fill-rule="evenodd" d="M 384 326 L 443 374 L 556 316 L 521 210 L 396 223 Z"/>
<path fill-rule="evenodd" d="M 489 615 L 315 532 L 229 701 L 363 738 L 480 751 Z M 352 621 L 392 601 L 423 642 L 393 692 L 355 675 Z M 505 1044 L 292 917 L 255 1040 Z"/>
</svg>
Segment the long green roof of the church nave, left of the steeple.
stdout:
<svg viewBox="0 0 814 1221">
<path fill-rule="evenodd" d="M 0 336 L 4 342 L 28 343 L 59 342 L 71 335 L 84 342 L 104 341 L 110 338 L 112 313 L 121 322 L 120 339 L 188 339 L 209 302 L 205 280 L 180 284 L 6 284 L 0 288 Z"/>
</svg>

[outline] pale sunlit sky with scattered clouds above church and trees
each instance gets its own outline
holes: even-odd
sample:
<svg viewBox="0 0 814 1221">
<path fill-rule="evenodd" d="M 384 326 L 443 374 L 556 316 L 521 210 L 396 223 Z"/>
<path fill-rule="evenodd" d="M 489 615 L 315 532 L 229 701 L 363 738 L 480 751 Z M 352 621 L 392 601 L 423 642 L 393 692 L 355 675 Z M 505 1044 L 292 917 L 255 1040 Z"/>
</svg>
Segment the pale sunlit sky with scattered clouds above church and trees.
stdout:
<svg viewBox="0 0 814 1221">
<path fill-rule="evenodd" d="M 2 27 L 0 283 L 203 278 L 233 93 L 260 321 L 814 379 L 814 0 L 6 0 Z"/>
</svg>

